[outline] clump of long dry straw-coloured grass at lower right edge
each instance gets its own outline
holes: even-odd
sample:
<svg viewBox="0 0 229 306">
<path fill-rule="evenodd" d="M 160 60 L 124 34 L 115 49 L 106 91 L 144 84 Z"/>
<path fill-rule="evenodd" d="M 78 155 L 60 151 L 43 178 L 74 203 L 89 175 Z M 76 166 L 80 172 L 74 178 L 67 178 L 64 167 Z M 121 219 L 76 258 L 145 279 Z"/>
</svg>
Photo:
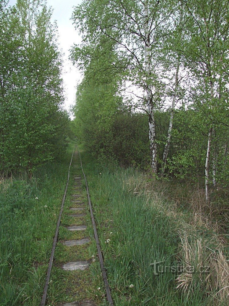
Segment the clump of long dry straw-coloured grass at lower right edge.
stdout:
<svg viewBox="0 0 229 306">
<path fill-rule="evenodd" d="M 198 286 L 214 297 L 216 305 L 220 305 L 229 297 L 229 265 L 222 245 L 209 234 L 198 238 L 188 232 L 187 225 L 180 230 L 178 260 L 183 269 L 176 278 L 176 288 L 192 294 Z"/>
</svg>

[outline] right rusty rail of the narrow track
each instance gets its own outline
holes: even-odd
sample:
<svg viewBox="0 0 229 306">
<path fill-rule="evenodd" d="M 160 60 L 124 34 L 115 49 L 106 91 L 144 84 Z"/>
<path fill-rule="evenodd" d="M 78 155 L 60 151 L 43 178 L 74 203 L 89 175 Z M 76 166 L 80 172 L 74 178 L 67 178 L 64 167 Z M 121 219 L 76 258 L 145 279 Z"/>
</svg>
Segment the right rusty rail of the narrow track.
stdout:
<svg viewBox="0 0 229 306">
<path fill-rule="evenodd" d="M 102 255 L 102 252 L 101 252 L 99 237 L 98 237 L 97 230 L 96 230 L 96 224 L 95 224 L 95 219 L 94 219 L 94 215 L 93 215 L 93 210 L 92 210 L 92 204 L 91 204 L 91 198 L 90 198 L 90 194 L 89 194 L 87 179 L 86 179 L 85 173 L 83 171 L 80 151 L 78 150 L 78 152 L 79 152 L 81 169 L 82 169 L 82 172 L 83 172 L 83 176 L 84 176 L 85 184 L 86 184 L 86 189 L 87 189 L 87 197 L 88 197 L 88 202 L 89 202 L 89 207 L 90 207 L 90 212 L 91 212 L 91 219 L 92 219 L 92 224 L 93 224 L 93 229 L 94 229 L 94 234 L 95 234 L 98 256 L 99 256 L 99 260 L 100 260 L 100 267 L 101 267 L 101 271 L 102 271 L 102 275 L 103 275 L 103 279 L 104 279 L 104 285 L 105 285 L 106 294 L 107 294 L 107 300 L 108 300 L 110 305 L 114 305 L 112 297 L 111 297 L 111 289 L 110 289 L 110 286 L 109 286 L 109 283 L 108 283 L 108 280 L 107 280 L 106 269 L 104 268 L 104 259 L 103 259 L 103 255 Z"/>
</svg>

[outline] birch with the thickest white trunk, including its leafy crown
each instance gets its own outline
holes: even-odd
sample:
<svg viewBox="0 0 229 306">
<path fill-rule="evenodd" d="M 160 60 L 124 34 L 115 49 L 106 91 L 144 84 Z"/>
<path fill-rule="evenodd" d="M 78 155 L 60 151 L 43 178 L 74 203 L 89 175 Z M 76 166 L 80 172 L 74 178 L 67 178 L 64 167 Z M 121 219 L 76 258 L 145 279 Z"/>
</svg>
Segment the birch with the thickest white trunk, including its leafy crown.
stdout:
<svg viewBox="0 0 229 306">
<path fill-rule="evenodd" d="M 149 118 L 153 173 L 157 172 L 154 111 L 161 94 L 157 90 L 161 67 L 154 58 L 159 52 L 165 28 L 168 33 L 171 10 L 168 2 L 164 1 L 85 0 L 73 13 L 75 25 L 83 34 L 81 48 L 85 48 L 88 42 L 97 45 L 101 36 L 113 41 L 119 63 L 127 63 L 121 65 L 121 69 L 125 70 L 125 80 L 140 92 L 146 92 L 146 98 L 142 98 L 137 107 L 144 110 Z M 117 68 L 116 63 L 114 67 Z"/>
</svg>

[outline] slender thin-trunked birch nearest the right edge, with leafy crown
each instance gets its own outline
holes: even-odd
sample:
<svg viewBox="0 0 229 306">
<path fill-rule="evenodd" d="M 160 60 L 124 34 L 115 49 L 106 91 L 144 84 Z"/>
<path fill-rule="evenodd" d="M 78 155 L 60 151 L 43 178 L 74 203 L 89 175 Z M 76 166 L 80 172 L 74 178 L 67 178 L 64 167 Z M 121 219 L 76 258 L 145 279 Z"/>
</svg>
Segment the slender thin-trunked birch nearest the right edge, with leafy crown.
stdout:
<svg viewBox="0 0 229 306">
<path fill-rule="evenodd" d="M 205 158 L 205 197 L 210 201 L 210 165 L 214 131 L 225 125 L 228 84 L 229 3 L 220 0 L 184 1 L 190 16 L 191 40 L 185 50 L 188 67 L 200 80 L 205 99 L 196 106 L 208 128 Z M 220 98 L 218 93 L 220 92 Z"/>
</svg>

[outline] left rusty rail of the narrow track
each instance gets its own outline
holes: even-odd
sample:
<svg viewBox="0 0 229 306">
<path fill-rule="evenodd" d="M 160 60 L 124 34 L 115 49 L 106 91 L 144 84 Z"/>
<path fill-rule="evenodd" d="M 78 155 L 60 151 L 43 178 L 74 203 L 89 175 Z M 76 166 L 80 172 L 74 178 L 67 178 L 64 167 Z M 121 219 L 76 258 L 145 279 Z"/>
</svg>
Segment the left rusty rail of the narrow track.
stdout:
<svg viewBox="0 0 229 306">
<path fill-rule="evenodd" d="M 72 162 L 74 151 L 75 151 L 75 147 L 74 147 L 73 152 L 72 152 L 71 162 Z M 56 242 L 57 242 L 58 233 L 59 233 L 59 227 L 60 227 L 60 219 L 61 219 L 61 215 L 62 215 L 62 212 L 63 212 L 64 201 L 65 201 L 65 198 L 66 198 L 67 187 L 68 187 L 68 183 L 69 183 L 71 162 L 70 162 L 70 165 L 69 165 L 69 168 L 68 168 L 67 184 L 66 184 L 65 191 L 64 191 L 64 196 L 63 196 L 63 200 L 62 200 L 62 204 L 61 204 L 61 208 L 60 208 L 59 218 L 58 218 L 58 221 L 57 221 L 57 224 L 56 224 L 55 236 L 53 238 L 53 248 L 52 248 L 51 256 L 50 256 L 50 259 L 49 259 L 49 267 L 48 267 L 48 271 L 47 271 L 47 275 L 46 275 L 45 287 L 44 287 L 44 291 L 43 291 L 43 295 L 42 295 L 42 300 L 41 300 L 41 306 L 45 306 L 46 299 L 47 299 L 47 291 L 48 291 L 48 286 L 49 286 L 49 279 L 50 279 L 51 270 L 52 270 L 52 266 L 53 266 L 54 252 L 55 252 L 55 248 L 56 248 Z"/>
</svg>

